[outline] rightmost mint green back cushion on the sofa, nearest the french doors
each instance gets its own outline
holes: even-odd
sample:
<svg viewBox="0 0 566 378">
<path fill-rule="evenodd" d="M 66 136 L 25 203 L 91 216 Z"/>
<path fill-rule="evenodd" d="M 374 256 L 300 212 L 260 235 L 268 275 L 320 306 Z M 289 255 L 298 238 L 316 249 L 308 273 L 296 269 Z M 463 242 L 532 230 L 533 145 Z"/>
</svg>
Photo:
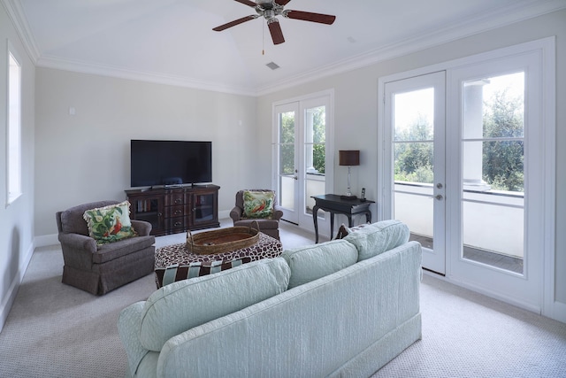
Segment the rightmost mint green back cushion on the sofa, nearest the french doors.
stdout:
<svg viewBox="0 0 566 378">
<path fill-rule="evenodd" d="M 344 241 L 356 246 L 358 261 L 372 258 L 409 241 L 409 228 L 399 220 L 383 220 L 360 228 L 350 228 Z"/>
</svg>

